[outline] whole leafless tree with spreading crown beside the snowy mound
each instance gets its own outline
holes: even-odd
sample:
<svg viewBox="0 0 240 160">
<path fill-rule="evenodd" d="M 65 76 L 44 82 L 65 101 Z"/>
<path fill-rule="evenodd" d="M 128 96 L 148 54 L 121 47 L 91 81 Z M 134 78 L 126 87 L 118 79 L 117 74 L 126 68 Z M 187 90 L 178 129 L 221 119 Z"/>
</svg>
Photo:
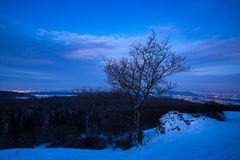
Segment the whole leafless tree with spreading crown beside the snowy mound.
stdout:
<svg viewBox="0 0 240 160">
<path fill-rule="evenodd" d="M 145 44 L 133 43 L 128 57 L 106 60 L 108 82 L 114 90 L 126 93 L 134 107 L 139 144 L 142 143 L 139 109 L 143 102 L 149 95 L 161 95 L 175 87 L 167 78 L 188 70 L 185 57 L 171 51 L 168 39 L 158 42 L 154 32 Z"/>
</svg>

